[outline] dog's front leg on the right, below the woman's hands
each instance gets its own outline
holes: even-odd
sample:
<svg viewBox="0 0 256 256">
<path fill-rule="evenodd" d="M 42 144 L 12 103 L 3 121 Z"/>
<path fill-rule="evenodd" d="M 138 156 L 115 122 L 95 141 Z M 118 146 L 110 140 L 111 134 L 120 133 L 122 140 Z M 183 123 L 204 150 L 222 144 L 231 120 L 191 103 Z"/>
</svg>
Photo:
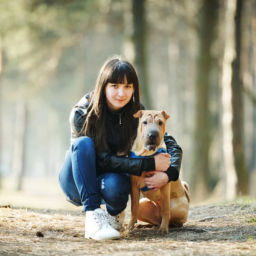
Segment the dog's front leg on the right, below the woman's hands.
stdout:
<svg viewBox="0 0 256 256">
<path fill-rule="evenodd" d="M 170 183 L 160 188 L 162 203 L 162 223 L 158 232 L 167 232 L 170 220 Z"/>
</svg>

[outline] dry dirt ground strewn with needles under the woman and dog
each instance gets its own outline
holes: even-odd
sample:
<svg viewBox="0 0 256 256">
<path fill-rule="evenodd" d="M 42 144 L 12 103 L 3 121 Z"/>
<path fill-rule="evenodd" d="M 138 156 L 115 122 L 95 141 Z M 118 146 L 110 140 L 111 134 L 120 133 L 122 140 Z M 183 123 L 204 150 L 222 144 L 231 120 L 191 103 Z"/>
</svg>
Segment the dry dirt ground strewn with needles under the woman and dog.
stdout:
<svg viewBox="0 0 256 256">
<path fill-rule="evenodd" d="M 194 207 L 182 230 L 125 230 L 117 241 L 84 239 L 84 220 L 82 212 L 0 208 L 0 255 L 256 255 L 256 201 Z"/>
</svg>

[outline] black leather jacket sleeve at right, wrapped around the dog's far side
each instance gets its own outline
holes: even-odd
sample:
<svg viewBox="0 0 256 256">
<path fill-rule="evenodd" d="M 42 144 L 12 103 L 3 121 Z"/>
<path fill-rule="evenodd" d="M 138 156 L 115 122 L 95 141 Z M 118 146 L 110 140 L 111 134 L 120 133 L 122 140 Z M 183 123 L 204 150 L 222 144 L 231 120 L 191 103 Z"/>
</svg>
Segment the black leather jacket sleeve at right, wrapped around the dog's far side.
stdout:
<svg viewBox="0 0 256 256">
<path fill-rule="evenodd" d="M 167 152 L 171 155 L 171 166 L 166 171 L 170 181 L 176 181 L 180 174 L 182 160 L 182 149 L 177 145 L 176 140 L 168 133 L 164 134 L 163 140 L 166 143 Z"/>
</svg>

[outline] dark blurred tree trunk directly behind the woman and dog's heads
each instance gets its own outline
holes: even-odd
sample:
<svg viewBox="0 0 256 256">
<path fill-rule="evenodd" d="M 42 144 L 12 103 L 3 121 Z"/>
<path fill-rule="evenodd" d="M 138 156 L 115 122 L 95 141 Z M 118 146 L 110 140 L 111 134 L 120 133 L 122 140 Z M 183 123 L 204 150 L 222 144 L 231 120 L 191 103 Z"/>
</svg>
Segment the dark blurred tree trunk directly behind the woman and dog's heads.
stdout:
<svg viewBox="0 0 256 256">
<path fill-rule="evenodd" d="M 140 81 L 143 105 L 151 109 L 148 92 L 148 74 L 146 61 L 146 22 L 145 22 L 145 1 L 132 0 L 133 35 L 134 44 L 134 66 Z"/>
</svg>

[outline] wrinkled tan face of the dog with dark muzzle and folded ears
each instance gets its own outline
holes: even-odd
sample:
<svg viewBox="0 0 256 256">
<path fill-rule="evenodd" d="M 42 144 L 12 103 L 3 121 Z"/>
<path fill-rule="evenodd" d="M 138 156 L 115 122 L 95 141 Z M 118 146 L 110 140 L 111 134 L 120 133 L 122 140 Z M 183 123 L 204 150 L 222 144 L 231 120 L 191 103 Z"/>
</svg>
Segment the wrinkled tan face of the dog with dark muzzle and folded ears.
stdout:
<svg viewBox="0 0 256 256">
<path fill-rule="evenodd" d="M 140 118 L 137 136 L 143 140 L 147 151 L 157 151 L 166 132 L 166 111 L 140 110 L 134 117 Z"/>
</svg>

